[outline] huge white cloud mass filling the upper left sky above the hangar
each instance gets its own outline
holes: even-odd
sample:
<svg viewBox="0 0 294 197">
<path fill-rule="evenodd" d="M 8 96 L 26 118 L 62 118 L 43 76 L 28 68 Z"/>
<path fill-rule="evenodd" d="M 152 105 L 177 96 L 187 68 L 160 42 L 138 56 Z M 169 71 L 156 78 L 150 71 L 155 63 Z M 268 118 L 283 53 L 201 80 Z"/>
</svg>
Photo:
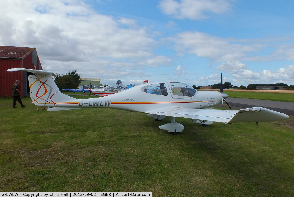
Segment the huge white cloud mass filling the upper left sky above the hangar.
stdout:
<svg viewBox="0 0 294 197">
<path fill-rule="evenodd" d="M 171 63 L 152 52 L 157 41 L 149 29 L 98 14 L 83 1 L 0 1 L 0 10 L 0 45 L 36 47 L 44 68 L 56 73 L 83 68 L 87 77 L 93 71 L 96 77 L 149 76 L 141 69 Z"/>
</svg>

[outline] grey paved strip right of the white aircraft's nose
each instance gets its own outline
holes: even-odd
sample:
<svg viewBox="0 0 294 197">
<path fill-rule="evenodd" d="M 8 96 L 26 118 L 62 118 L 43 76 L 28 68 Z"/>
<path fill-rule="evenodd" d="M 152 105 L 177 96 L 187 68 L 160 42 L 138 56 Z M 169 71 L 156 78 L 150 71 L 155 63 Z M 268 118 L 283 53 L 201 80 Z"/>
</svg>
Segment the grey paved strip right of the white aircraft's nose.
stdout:
<svg viewBox="0 0 294 197">
<path fill-rule="evenodd" d="M 225 100 L 231 106 L 237 106 L 242 108 L 264 107 L 264 108 L 275 110 L 287 115 L 294 115 L 293 102 L 267 101 L 267 100 L 257 100 L 257 99 L 249 99 L 249 98 L 232 98 L 232 97 L 228 97 Z"/>
</svg>

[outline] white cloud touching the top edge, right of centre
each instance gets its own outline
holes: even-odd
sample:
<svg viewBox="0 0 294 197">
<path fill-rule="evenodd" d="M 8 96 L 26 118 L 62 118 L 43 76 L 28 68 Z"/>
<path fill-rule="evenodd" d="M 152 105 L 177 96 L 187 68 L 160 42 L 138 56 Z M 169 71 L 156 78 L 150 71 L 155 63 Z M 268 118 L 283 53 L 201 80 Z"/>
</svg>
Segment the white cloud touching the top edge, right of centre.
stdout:
<svg viewBox="0 0 294 197">
<path fill-rule="evenodd" d="M 230 3 L 225 0 L 162 0 L 158 5 L 163 14 L 191 20 L 206 19 L 208 13 L 223 14 L 228 12 L 230 7 Z"/>
</svg>

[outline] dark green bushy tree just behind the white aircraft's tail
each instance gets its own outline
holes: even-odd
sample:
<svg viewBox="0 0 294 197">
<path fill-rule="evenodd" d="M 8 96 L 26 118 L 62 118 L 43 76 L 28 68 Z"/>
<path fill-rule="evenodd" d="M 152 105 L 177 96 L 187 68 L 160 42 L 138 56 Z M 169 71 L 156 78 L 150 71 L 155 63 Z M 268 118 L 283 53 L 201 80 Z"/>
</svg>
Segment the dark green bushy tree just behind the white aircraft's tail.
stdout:
<svg viewBox="0 0 294 197">
<path fill-rule="evenodd" d="M 62 88 L 76 89 L 81 83 L 81 75 L 78 74 L 77 70 L 72 70 L 66 74 L 56 74 L 54 81 L 60 90 Z"/>
</svg>

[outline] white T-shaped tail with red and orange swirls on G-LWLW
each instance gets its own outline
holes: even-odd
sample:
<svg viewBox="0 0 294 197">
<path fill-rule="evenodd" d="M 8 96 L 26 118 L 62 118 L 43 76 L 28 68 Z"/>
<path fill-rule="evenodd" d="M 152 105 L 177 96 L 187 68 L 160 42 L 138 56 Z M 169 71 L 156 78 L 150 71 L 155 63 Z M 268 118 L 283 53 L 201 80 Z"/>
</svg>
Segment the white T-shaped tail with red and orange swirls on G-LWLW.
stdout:
<svg viewBox="0 0 294 197">
<path fill-rule="evenodd" d="M 55 76 L 52 72 L 24 68 L 10 68 L 7 70 L 7 72 L 14 71 L 26 71 L 35 74 L 29 75 L 28 78 L 32 103 L 37 106 L 58 106 L 64 101 L 77 100 L 60 92 L 52 78 L 52 76 Z"/>
</svg>

